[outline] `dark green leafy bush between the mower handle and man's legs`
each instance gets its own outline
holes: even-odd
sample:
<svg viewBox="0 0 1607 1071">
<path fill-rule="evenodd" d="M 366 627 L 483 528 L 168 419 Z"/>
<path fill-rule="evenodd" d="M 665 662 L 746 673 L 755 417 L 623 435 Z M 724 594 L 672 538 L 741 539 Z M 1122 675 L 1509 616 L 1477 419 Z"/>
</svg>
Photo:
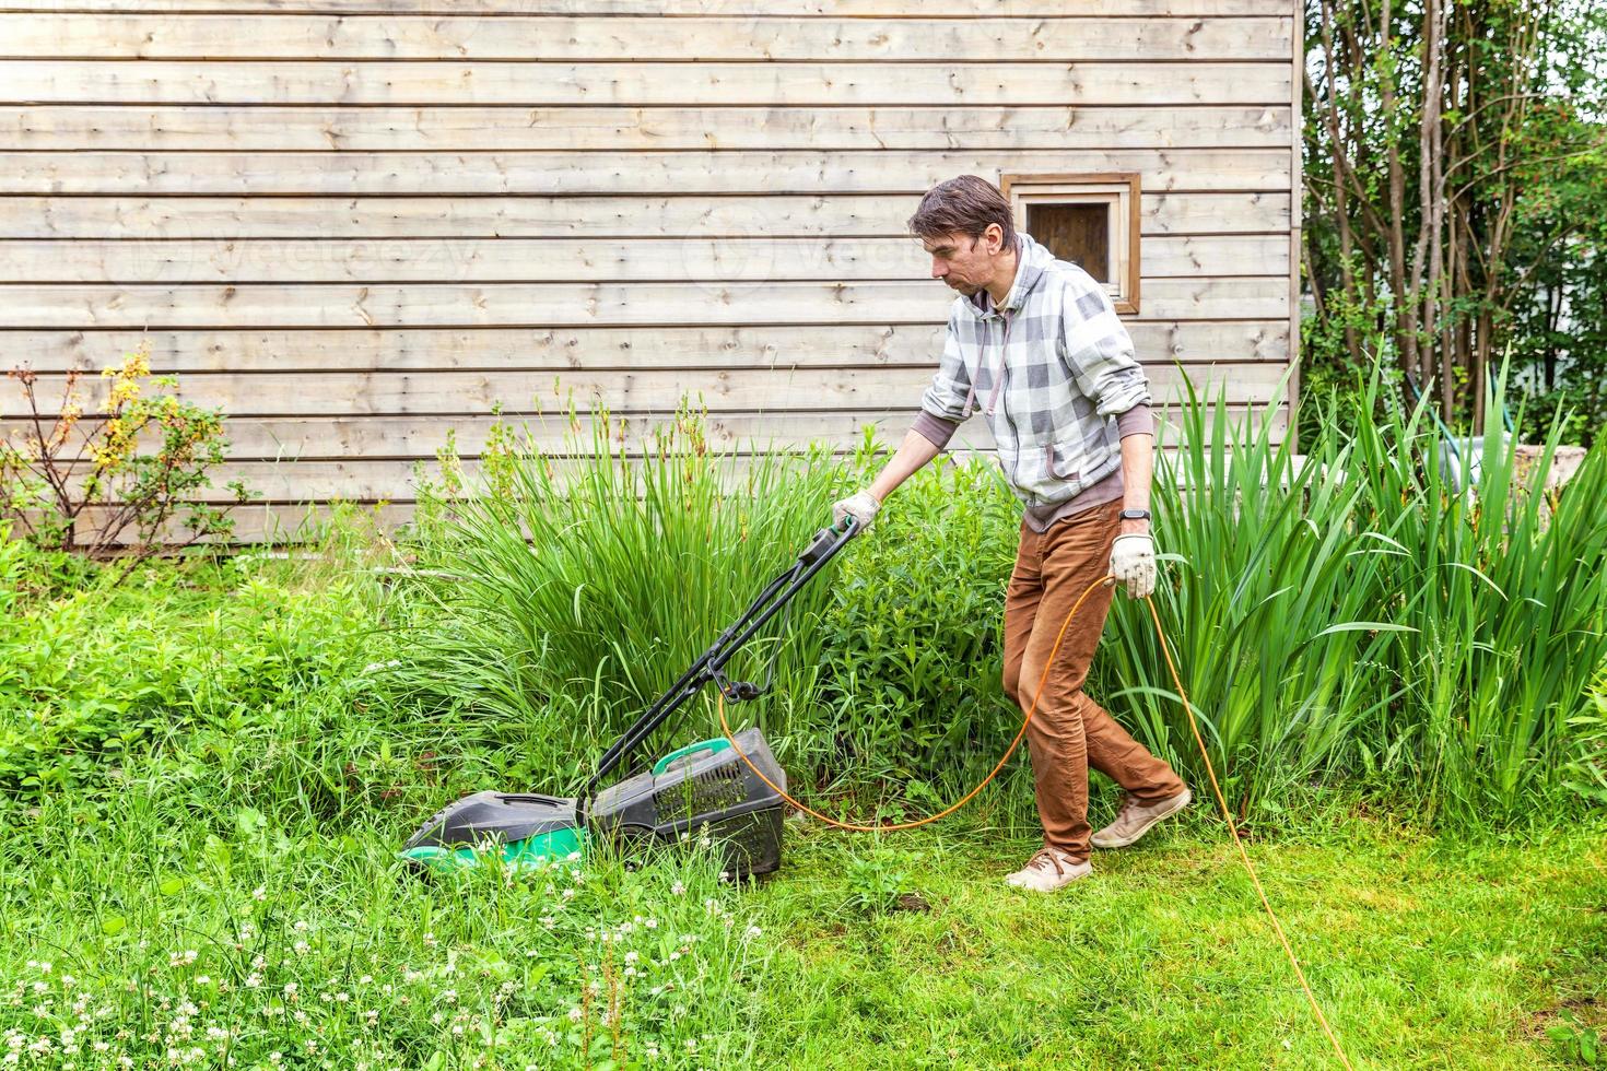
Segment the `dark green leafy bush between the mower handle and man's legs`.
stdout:
<svg viewBox="0 0 1607 1071">
<path fill-rule="evenodd" d="M 996 466 L 940 454 L 844 552 L 821 620 L 829 739 L 815 750 L 840 784 L 892 780 L 930 804 L 1014 735 L 1001 621 L 1019 525 Z"/>
</svg>

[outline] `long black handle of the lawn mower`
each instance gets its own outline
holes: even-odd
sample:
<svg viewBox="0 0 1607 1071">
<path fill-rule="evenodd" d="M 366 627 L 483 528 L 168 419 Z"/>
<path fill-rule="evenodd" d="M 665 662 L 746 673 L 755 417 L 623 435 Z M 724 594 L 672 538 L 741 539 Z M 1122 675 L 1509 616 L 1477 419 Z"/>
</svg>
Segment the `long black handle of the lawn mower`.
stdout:
<svg viewBox="0 0 1607 1071">
<path fill-rule="evenodd" d="M 754 637 L 759 629 L 762 629 L 770 618 L 773 618 L 792 597 L 818 573 L 821 568 L 837 556 L 848 541 L 861 531 L 860 522 L 848 515 L 844 517 L 839 525 L 831 528 L 821 528 L 815 533 L 815 540 L 808 548 L 799 554 L 797 560 L 783 570 L 775 580 L 771 580 L 765 589 L 754 599 L 742 615 L 731 623 L 714 644 L 702 652 L 696 662 L 675 681 L 659 698 L 652 700 L 636 718 L 635 723 L 612 745 L 603 753 L 598 761 L 596 772 L 587 780 L 585 790 L 575 803 L 577 814 L 585 817 L 587 808 L 591 798 L 596 795 L 598 787 L 603 784 L 614 769 L 619 768 L 625 758 L 635 751 L 641 743 L 654 734 L 670 715 L 673 715 L 680 707 L 702 690 L 704 684 L 710 681 L 725 682 L 725 674 L 722 670 L 736 655 L 738 650 Z M 730 682 L 730 690 L 726 690 L 726 698 L 746 700 L 757 698 L 763 694 L 746 681 Z"/>
</svg>

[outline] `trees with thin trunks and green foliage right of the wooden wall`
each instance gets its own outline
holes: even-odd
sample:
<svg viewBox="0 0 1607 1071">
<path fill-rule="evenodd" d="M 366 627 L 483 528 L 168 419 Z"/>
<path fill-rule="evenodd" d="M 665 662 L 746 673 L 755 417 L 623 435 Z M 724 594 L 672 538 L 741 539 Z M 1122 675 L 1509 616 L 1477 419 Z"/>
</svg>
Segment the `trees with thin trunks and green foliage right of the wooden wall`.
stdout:
<svg viewBox="0 0 1607 1071">
<path fill-rule="evenodd" d="M 1607 364 L 1607 11 L 1308 0 L 1306 47 L 1308 361 L 1361 366 L 1382 339 L 1445 419 L 1482 426 L 1482 384 L 1511 355 L 1588 438 Z"/>
</svg>

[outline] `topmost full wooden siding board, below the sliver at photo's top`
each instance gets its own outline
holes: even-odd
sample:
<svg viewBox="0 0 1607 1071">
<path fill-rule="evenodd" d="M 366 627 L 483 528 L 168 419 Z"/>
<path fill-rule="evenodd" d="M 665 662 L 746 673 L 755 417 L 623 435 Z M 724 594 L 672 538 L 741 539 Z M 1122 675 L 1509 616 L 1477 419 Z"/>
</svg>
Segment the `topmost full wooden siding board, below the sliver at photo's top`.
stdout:
<svg viewBox="0 0 1607 1071">
<path fill-rule="evenodd" d="M 1294 19 L 0 14 L 0 58 L 1072 63 L 1276 59 Z"/>
</svg>

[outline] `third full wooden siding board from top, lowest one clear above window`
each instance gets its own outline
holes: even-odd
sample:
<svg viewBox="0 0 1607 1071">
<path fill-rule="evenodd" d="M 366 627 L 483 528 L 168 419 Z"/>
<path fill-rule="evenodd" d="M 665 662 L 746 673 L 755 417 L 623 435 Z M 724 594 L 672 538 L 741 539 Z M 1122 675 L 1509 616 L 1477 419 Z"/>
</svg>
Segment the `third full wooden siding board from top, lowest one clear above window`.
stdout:
<svg viewBox="0 0 1607 1071">
<path fill-rule="evenodd" d="M 1253 108 L 0 108 L 22 151 L 638 153 L 644 149 L 1279 148 L 1292 117 Z"/>
</svg>

